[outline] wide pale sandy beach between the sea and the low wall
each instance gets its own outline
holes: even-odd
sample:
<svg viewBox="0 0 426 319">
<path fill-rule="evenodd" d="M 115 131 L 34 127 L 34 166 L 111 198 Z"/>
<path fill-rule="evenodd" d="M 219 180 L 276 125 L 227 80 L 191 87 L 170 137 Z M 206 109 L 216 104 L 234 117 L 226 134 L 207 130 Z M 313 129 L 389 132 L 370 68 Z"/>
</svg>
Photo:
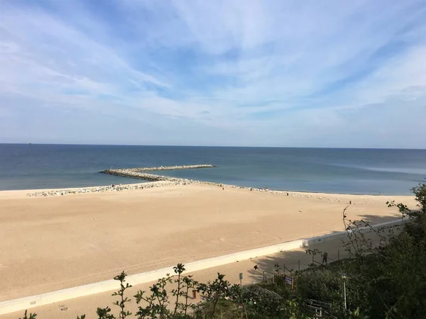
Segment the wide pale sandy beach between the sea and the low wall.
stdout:
<svg viewBox="0 0 426 319">
<path fill-rule="evenodd" d="M 271 194 L 191 184 L 27 198 L 0 192 L 0 301 L 398 217 L 411 196 Z"/>
</svg>

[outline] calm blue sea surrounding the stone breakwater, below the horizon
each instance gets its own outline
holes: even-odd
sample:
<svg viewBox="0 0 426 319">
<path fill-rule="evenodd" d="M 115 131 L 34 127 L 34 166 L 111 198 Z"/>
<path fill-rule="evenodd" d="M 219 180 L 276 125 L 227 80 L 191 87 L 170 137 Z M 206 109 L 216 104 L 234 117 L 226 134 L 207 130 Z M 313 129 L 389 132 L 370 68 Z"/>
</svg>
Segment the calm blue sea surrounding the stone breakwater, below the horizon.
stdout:
<svg viewBox="0 0 426 319">
<path fill-rule="evenodd" d="M 110 167 L 216 164 L 174 177 L 289 191 L 410 194 L 426 181 L 426 150 L 0 144 L 0 189 L 140 183 Z"/>
</svg>

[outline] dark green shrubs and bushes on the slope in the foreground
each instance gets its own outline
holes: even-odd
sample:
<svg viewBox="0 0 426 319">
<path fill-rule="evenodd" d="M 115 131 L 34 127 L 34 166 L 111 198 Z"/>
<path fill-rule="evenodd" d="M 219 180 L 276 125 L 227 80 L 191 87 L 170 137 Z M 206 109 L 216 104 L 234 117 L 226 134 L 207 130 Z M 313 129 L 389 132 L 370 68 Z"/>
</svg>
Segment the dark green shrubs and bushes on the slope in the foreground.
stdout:
<svg viewBox="0 0 426 319">
<path fill-rule="evenodd" d="M 131 302 L 126 296 L 130 286 L 122 272 L 114 278 L 120 284 L 113 294 L 118 298 L 114 310 L 98 308 L 97 318 L 426 318 L 426 184 L 412 191 L 418 209 L 411 211 L 403 203 L 388 202 L 399 208 L 405 223 L 391 230 L 370 228 L 375 240 L 360 229 L 369 227 L 368 223 L 349 220 L 344 210 L 343 245 L 349 258 L 327 266 L 311 264 L 301 272 L 276 265 L 270 279 L 244 287 L 230 284 L 223 274 L 199 283 L 183 275 L 185 266 L 178 264 L 173 276 L 158 279 L 150 291 L 133 296 L 136 313 L 126 310 Z M 307 253 L 323 254 L 319 250 Z M 291 277 L 294 289 L 288 281 Z M 169 284 L 175 287 L 170 292 Z M 200 293 L 201 303 L 192 303 L 193 291 Z M 26 311 L 22 319 L 38 318 Z"/>
</svg>

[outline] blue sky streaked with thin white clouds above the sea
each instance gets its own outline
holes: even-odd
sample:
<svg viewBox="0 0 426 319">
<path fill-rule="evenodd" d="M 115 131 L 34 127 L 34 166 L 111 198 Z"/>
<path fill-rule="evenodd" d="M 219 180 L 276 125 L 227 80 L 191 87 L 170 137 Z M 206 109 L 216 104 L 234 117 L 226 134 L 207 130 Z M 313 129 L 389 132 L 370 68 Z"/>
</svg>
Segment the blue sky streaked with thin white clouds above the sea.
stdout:
<svg viewBox="0 0 426 319">
<path fill-rule="evenodd" d="M 0 142 L 426 148 L 425 119 L 425 0 L 0 0 Z"/>
</svg>

